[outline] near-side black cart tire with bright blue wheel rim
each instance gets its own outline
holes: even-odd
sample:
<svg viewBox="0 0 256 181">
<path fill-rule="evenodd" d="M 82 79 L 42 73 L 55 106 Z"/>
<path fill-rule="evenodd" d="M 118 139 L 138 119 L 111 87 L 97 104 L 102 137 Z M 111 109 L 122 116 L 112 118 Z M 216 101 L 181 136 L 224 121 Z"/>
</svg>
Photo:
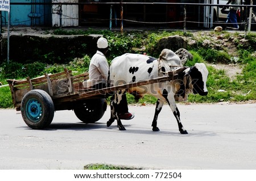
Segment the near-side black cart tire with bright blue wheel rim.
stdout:
<svg viewBox="0 0 256 181">
<path fill-rule="evenodd" d="M 24 122 L 32 129 L 43 129 L 52 123 L 54 104 L 46 91 L 35 89 L 27 92 L 21 102 Z"/>
</svg>

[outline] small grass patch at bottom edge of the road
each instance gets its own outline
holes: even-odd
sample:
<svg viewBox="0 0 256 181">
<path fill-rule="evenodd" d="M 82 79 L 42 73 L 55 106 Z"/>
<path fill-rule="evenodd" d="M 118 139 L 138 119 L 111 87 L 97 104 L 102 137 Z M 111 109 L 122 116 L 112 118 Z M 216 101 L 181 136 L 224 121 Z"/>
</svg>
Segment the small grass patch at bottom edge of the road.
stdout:
<svg viewBox="0 0 256 181">
<path fill-rule="evenodd" d="M 127 167 L 127 166 L 116 166 L 109 164 L 94 163 L 84 166 L 84 170 L 143 170 L 142 168 Z"/>
</svg>

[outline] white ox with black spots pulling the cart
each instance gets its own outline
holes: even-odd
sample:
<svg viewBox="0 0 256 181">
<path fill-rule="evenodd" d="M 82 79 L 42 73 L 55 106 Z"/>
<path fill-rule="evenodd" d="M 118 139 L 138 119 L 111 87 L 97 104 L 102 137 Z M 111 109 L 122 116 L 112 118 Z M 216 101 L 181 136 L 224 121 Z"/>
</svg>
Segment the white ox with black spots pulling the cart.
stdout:
<svg viewBox="0 0 256 181">
<path fill-rule="evenodd" d="M 181 69 L 180 69 L 181 68 Z M 115 91 L 110 102 L 111 117 L 107 122 L 109 127 L 115 119 L 119 130 L 125 130 L 117 114 L 118 104 L 122 95 L 126 92 L 142 97 L 144 94 L 151 94 L 158 98 L 156 102 L 155 115 L 152 121 L 152 130 L 159 131 L 157 119 L 163 104 L 167 102 L 177 120 L 181 134 L 187 134 L 180 121 L 180 112 L 175 100 L 186 99 L 188 94 L 207 95 L 206 86 L 208 70 L 204 64 L 196 63 L 190 68 L 181 65 L 180 58 L 170 49 L 163 49 L 159 58 L 153 58 L 144 54 L 126 53 L 114 58 L 110 65 L 110 80 L 113 85 L 133 83 L 147 79 L 163 77 L 168 71 L 179 72 L 178 78 L 173 81 L 160 81 L 149 85 L 131 87 L 127 90 Z"/>
</svg>

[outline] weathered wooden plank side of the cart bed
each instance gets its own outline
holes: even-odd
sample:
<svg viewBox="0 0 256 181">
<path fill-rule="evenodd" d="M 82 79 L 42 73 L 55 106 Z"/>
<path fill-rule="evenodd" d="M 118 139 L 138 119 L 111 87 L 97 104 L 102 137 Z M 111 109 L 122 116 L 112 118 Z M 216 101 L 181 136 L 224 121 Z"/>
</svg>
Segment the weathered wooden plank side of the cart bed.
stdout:
<svg viewBox="0 0 256 181">
<path fill-rule="evenodd" d="M 17 111 L 20 111 L 20 104 L 23 96 L 31 90 L 40 89 L 46 91 L 52 99 L 62 98 L 67 95 L 79 94 L 82 89 L 82 82 L 89 78 L 89 73 L 72 76 L 72 71 L 64 69 L 61 73 L 47 74 L 42 77 L 26 80 L 8 79 L 13 104 Z"/>
</svg>

